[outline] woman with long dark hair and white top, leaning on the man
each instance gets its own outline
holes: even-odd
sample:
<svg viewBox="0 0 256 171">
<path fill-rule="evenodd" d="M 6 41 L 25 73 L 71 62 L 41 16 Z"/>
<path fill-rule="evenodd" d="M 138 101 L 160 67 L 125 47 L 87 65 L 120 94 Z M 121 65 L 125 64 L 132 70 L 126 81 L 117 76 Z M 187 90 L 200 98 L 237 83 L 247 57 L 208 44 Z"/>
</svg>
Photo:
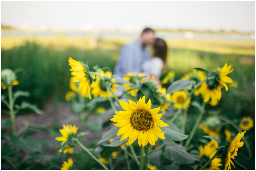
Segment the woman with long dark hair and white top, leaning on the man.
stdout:
<svg viewBox="0 0 256 171">
<path fill-rule="evenodd" d="M 159 80 L 161 72 L 167 68 L 167 45 L 163 39 L 157 38 L 153 45 L 153 57 L 142 64 L 145 75 L 149 75 L 155 80 Z"/>
</svg>

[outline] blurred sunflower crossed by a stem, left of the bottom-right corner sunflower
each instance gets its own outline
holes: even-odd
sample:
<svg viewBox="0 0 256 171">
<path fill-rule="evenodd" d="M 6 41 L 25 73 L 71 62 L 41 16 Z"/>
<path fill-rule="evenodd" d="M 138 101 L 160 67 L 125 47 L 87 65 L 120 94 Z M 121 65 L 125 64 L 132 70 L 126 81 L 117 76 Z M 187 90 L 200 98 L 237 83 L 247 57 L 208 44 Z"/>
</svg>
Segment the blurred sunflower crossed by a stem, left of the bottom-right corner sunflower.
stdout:
<svg viewBox="0 0 256 171">
<path fill-rule="evenodd" d="M 200 148 L 199 148 L 200 156 L 198 158 L 200 159 L 201 166 L 204 166 L 217 152 L 217 150 L 216 150 L 217 148 L 215 148 L 216 143 L 209 142 L 204 147 L 202 145 L 200 145 Z M 213 146 L 211 144 L 215 144 L 215 145 Z M 218 147 L 218 143 L 217 143 L 217 147 Z M 220 170 L 219 166 L 222 166 L 222 164 L 220 162 L 221 162 L 220 158 L 214 158 L 211 161 L 211 163 L 208 166 L 206 166 L 204 169 L 205 170 Z"/>
</svg>

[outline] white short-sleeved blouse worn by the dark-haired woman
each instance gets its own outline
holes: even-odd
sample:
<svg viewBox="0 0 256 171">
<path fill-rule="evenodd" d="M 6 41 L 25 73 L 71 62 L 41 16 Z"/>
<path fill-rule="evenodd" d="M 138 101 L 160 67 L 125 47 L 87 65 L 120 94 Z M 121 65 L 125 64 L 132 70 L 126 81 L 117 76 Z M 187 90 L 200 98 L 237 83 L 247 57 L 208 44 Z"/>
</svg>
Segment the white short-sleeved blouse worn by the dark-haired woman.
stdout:
<svg viewBox="0 0 256 171">
<path fill-rule="evenodd" d="M 145 75 L 155 75 L 158 79 L 161 76 L 164 62 L 158 57 L 152 57 L 142 64 L 142 71 Z"/>
</svg>

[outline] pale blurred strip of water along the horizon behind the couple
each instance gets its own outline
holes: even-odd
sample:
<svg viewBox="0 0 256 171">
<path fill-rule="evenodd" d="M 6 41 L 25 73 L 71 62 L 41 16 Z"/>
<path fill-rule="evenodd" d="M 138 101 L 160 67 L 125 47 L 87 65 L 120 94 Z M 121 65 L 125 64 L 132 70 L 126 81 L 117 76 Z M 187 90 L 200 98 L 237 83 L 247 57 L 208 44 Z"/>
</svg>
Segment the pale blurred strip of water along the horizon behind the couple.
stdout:
<svg viewBox="0 0 256 171">
<path fill-rule="evenodd" d="M 55 32 L 55 31 L 1 31 L 1 36 L 24 36 L 24 37 L 97 37 L 97 38 L 138 38 L 139 33 L 123 33 L 123 32 Z M 195 33 L 195 32 L 157 32 L 157 37 L 163 39 L 218 39 L 218 40 L 245 40 L 255 41 L 255 34 L 227 34 L 227 33 Z"/>
</svg>

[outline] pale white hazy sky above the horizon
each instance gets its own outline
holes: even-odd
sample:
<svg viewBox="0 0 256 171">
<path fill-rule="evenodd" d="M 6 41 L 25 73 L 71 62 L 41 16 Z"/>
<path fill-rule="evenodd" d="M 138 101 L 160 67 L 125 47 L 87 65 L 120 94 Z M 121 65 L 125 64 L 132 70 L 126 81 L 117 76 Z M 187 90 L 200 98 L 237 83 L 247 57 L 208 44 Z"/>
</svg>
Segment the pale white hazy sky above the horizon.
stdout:
<svg viewBox="0 0 256 171">
<path fill-rule="evenodd" d="M 54 30 L 255 32 L 255 1 L 1 1 L 1 25 Z"/>
</svg>

